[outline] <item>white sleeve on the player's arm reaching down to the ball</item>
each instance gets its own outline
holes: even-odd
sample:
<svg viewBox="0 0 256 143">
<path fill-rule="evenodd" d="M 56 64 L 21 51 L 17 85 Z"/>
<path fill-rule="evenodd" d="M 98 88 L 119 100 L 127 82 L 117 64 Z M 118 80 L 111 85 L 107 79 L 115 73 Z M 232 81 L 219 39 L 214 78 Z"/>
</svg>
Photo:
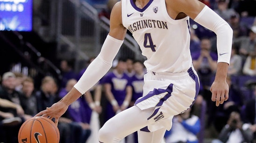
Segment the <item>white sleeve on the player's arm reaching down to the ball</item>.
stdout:
<svg viewBox="0 0 256 143">
<path fill-rule="evenodd" d="M 79 79 L 78 83 L 74 85 L 74 87 L 81 94 L 88 91 L 107 73 L 107 71 L 111 68 L 112 62 L 122 43 L 123 40 L 115 39 L 107 35 L 107 38 L 102 45 L 100 54 L 87 67 L 85 73 Z"/>
</svg>

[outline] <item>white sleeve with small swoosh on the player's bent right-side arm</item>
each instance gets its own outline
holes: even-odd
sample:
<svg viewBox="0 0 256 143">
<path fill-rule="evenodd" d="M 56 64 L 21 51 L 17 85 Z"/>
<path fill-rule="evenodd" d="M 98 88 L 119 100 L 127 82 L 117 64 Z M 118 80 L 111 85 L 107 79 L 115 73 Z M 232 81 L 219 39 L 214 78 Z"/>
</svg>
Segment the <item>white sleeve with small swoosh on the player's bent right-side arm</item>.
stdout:
<svg viewBox="0 0 256 143">
<path fill-rule="evenodd" d="M 233 30 L 228 23 L 207 6 L 203 8 L 194 21 L 216 33 L 218 62 L 229 64 Z"/>
</svg>

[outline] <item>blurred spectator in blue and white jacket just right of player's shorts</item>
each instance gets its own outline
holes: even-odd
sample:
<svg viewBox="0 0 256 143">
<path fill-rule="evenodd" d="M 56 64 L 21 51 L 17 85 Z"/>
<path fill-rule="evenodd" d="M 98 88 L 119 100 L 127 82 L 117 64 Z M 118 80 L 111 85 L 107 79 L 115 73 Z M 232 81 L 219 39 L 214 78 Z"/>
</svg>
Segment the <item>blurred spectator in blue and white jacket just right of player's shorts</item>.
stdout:
<svg viewBox="0 0 256 143">
<path fill-rule="evenodd" d="M 164 135 L 166 143 L 198 143 L 200 120 L 192 110 L 193 107 L 173 117 L 171 130 Z"/>
</svg>

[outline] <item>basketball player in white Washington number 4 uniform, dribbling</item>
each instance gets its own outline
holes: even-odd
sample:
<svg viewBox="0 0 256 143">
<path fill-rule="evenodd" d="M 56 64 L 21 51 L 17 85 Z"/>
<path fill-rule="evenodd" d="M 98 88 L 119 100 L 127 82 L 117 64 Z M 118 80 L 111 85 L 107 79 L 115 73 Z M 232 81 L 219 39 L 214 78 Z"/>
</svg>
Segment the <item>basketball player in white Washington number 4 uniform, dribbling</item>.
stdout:
<svg viewBox="0 0 256 143">
<path fill-rule="evenodd" d="M 216 106 L 228 99 L 227 70 L 233 31 L 199 0 L 121 0 L 110 17 L 110 32 L 97 58 L 74 88 L 37 116 L 58 118 L 110 69 L 127 29 L 147 57 L 143 97 L 108 120 L 99 131 L 100 143 L 118 143 L 138 131 L 139 143 L 161 143 L 174 115 L 190 108 L 198 94 L 199 79 L 189 50 L 189 17 L 217 35 L 218 65 L 211 85 Z"/>
</svg>

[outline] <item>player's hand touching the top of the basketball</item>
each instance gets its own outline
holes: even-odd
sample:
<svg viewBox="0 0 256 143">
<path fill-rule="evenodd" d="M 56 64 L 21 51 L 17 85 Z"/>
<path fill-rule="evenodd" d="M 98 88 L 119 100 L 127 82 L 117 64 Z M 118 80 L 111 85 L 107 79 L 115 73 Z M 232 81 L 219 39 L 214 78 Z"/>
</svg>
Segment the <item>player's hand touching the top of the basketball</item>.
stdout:
<svg viewBox="0 0 256 143">
<path fill-rule="evenodd" d="M 36 114 L 36 116 L 48 117 L 50 120 L 55 118 L 55 124 L 58 125 L 59 117 L 61 117 L 65 111 L 68 109 L 68 105 L 59 101 L 53 104 L 51 107 L 47 107 L 46 110 L 43 110 Z"/>
</svg>

